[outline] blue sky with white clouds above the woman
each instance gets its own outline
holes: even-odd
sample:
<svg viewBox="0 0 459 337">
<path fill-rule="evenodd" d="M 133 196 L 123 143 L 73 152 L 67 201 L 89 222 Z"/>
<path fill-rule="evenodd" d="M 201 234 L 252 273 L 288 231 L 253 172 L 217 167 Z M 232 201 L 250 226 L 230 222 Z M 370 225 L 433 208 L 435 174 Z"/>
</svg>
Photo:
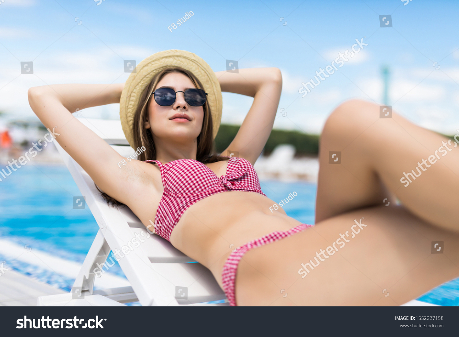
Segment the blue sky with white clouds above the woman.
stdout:
<svg viewBox="0 0 459 337">
<path fill-rule="evenodd" d="M 382 66 L 390 68 L 394 110 L 429 129 L 459 128 L 458 1 L 99 1 L 1 3 L 0 110 L 9 118 L 34 116 L 29 87 L 123 82 L 129 75 L 123 60 L 181 49 L 214 71 L 225 70 L 226 59 L 240 68 L 279 67 L 279 108 L 287 115 L 278 113 L 276 128 L 319 133 L 342 101 L 382 104 Z M 194 15 L 170 32 L 186 11 Z M 392 15 L 392 28 L 380 27 L 380 14 Z M 301 97 L 303 81 L 364 36 L 364 50 Z M 21 74 L 21 61 L 33 61 L 34 74 Z M 241 123 L 251 103 L 224 93 L 222 121 Z M 116 119 L 118 105 L 86 109 L 84 116 Z"/>
</svg>

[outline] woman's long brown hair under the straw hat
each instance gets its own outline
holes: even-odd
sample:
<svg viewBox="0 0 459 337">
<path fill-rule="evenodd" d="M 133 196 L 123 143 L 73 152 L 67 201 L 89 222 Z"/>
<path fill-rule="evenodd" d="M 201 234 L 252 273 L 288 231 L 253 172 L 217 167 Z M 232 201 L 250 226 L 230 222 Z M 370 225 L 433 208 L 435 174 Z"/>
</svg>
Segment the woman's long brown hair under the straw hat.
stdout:
<svg viewBox="0 0 459 337">
<path fill-rule="evenodd" d="M 148 131 L 145 128 L 145 122 L 148 118 L 148 107 L 150 106 L 152 93 L 155 91 L 157 84 L 161 79 L 166 76 L 168 73 L 182 73 L 187 76 L 191 82 L 195 85 L 196 88 L 204 90 L 199 79 L 190 71 L 183 69 L 181 67 L 169 67 L 163 69 L 157 73 L 153 79 L 151 79 L 150 84 L 143 91 L 137 110 L 134 115 L 133 123 L 133 135 L 134 135 L 134 147 L 142 148 L 145 147 L 145 151 L 142 152 L 137 159 L 144 160 L 155 160 L 156 159 L 156 146 L 153 141 L 152 131 Z M 207 164 L 215 163 L 221 160 L 227 160 L 227 157 L 221 157 L 215 154 L 214 144 L 213 144 L 213 123 L 212 123 L 212 113 L 210 106 L 206 101 L 202 106 L 204 110 L 204 118 L 202 120 L 201 133 L 197 137 L 197 151 L 196 151 L 196 160 Z M 151 130 L 151 129 L 150 129 Z M 101 191 L 99 187 L 95 186 L 99 192 L 101 192 L 102 197 L 106 200 L 108 205 L 117 207 L 124 205 L 122 202 L 110 197 L 105 192 Z"/>
</svg>

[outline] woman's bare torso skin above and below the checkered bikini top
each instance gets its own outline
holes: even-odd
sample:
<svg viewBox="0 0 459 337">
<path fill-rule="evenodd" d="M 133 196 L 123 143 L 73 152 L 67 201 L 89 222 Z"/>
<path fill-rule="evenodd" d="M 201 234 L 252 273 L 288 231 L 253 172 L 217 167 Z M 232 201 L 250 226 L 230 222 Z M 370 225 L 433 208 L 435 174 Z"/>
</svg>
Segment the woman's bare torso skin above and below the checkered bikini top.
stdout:
<svg viewBox="0 0 459 337">
<path fill-rule="evenodd" d="M 155 219 L 164 187 L 157 165 L 136 162 L 141 168 L 137 198 L 129 208 L 145 226 Z M 206 164 L 218 177 L 228 161 Z M 152 208 L 151 205 L 154 204 Z M 289 230 L 300 222 L 288 217 L 274 201 L 257 192 L 225 191 L 206 197 L 188 208 L 174 227 L 174 247 L 209 268 L 221 286 L 221 272 L 235 248 L 276 230 Z M 269 209 L 271 208 L 271 209 Z M 272 212 L 271 212 L 272 210 Z"/>
</svg>

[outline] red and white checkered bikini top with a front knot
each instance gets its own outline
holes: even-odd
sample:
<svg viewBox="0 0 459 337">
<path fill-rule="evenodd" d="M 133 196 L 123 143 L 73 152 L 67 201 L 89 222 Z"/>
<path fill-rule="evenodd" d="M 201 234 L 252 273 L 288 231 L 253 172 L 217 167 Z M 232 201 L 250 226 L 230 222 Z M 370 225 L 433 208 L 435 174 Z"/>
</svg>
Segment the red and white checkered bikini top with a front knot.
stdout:
<svg viewBox="0 0 459 337">
<path fill-rule="evenodd" d="M 193 159 L 179 159 L 163 165 L 161 170 L 164 192 L 155 217 L 155 232 L 170 241 L 170 235 L 182 214 L 195 202 L 216 193 L 226 191 L 253 191 L 266 196 L 260 188 L 257 172 L 244 158 L 229 158 L 226 174 L 217 177 L 201 162 Z"/>
</svg>

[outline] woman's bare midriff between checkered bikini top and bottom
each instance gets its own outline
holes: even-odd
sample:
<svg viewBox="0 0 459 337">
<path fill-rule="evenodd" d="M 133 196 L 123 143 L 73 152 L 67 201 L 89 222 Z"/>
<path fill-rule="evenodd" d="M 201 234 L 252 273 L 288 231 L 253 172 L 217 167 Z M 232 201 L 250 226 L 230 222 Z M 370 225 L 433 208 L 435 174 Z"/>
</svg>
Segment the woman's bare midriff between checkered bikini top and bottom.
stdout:
<svg viewBox="0 0 459 337">
<path fill-rule="evenodd" d="M 171 243 L 209 268 L 221 286 L 221 271 L 235 248 L 276 230 L 300 224 L 274 201 L 249 191 L 226 191 L 188 208 L 172 231 Z M 273 212 L 269 209 L 273 209 Z"/>
</svg>

